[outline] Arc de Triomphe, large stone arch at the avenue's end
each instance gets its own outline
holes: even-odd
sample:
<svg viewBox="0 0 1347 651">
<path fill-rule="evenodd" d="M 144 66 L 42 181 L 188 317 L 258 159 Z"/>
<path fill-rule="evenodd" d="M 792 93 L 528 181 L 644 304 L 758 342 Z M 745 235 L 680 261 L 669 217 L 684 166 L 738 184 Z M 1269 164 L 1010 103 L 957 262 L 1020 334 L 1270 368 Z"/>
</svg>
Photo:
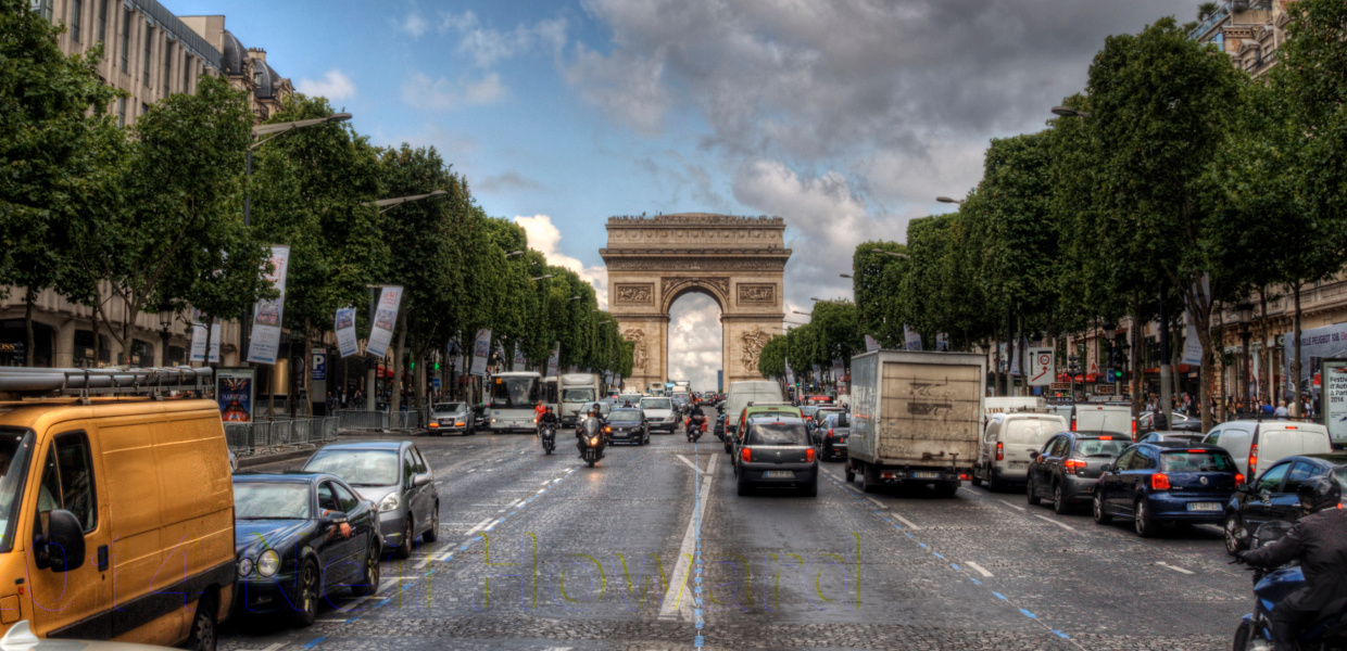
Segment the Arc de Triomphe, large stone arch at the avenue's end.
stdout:
<svg viewBox="0 0 1347 651">
<path fill-rule="evenodd" d="M 628 387 L 668 377 L 669 307 L 688 292 L 721 307 L 725 386 L 762 379 L 757 358 L 784 319 L 781 274 L 791 250 L 779 217 L 688 213 L 607 221 L 607 305 L 636 342 Z"/>
</svg>

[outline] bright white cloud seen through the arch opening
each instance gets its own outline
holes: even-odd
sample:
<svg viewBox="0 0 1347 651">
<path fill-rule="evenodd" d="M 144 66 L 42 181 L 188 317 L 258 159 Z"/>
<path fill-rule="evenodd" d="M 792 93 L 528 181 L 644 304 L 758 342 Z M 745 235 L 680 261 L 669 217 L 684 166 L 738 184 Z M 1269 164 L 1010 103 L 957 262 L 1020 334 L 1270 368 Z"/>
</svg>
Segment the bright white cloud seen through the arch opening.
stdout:
<svg viewBox="0 0 1347 651">
<path fill-rule="evenodd" d="M 694 391 L 715 389 L 722 369 L 721 308 L 710 296 L 691 293 L 669 308 L 669 378 L 692 382 Z"/>
</svg>

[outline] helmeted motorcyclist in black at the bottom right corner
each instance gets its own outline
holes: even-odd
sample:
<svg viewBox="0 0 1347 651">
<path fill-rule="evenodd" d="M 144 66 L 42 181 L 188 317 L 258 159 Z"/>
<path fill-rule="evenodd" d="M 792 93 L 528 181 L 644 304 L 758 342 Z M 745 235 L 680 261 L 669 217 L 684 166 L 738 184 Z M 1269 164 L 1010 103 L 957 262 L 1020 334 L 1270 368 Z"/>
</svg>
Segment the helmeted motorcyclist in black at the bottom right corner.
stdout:
<svg viewBox="0 0 1347 651">
<path fill-rule="evenodd" d="M 1241 551 L 1237 558 L 1259 568 L 1300 561 L 1305 586 L 1286 596 L 1272 612 L 1276 651 L 1294 651 L 1296 636 L 1323 616 L 1332 601 L 1347 597 L 1347 510 L 1342 488 L 1328 476 L 1305 480 L 1296 491 L 1303 518 L 1290 530 L 1261 549 Z"/>
</svg>

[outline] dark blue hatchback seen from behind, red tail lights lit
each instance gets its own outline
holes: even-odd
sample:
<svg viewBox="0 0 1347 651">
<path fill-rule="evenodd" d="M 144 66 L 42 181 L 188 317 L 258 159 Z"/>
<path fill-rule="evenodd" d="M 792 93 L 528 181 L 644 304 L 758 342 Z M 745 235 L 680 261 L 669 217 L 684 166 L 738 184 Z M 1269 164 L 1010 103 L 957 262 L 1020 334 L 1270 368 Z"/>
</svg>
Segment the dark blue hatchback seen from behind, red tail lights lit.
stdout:
<svg viewBox="0 0 1347 651">
<path fill-rule="evenodd" d="M 1183 441 L 1138 443 L 1105 467 L 1094 495 L 1095 522 L 1131 518 L 1137 535 L 1164 525 L 1219 525 L 1239 469 L 1223 448 Z"/>
</svg>

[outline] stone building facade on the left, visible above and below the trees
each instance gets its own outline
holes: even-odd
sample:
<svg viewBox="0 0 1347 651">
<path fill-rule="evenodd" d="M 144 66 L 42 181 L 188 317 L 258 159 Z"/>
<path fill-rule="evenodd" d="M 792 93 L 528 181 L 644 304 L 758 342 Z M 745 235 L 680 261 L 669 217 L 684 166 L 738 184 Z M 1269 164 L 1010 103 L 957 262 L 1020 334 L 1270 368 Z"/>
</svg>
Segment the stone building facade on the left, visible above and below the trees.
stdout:
<svg viewBox="0 0 1347 651">
<path fill-rule="evenodd" d="M 290 79 L 267 63 L 267 52 L 244 48 L 225 30 L 225 16 L 175 16 L 156 0 L 32 0 L 34 11 L 66 27 L 61 51 L 84 52 L 104 44 L 98 75 L 129 97 L 109 108 L 119 125 L 131 125 L 155 102 L 174 93 L 194 93 L 202 74 L 225 75 L 248 91 L 256 121 L 267 120 L 294 93 Z M 104 291 L 102 309 L 125 323 L 120 299 Z M 31 303 L 31 305 L 30 305 Z M 185 363 L 191 328 L 186 315 L 143 312 L 132 327 L 129 358 L 93 313 L 46 289 L 31 297 L 23 286 L 0 288 L 0 366 L 23 366 L 28 358 L 24 315 L 34 330 L 32 363 L 57 367 Z M 152 309 L 152 308 L 150 308 Z M 238 323 L 221 326 L 221 362 L 238 365 Z"/>
</svg>

